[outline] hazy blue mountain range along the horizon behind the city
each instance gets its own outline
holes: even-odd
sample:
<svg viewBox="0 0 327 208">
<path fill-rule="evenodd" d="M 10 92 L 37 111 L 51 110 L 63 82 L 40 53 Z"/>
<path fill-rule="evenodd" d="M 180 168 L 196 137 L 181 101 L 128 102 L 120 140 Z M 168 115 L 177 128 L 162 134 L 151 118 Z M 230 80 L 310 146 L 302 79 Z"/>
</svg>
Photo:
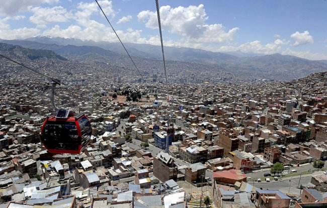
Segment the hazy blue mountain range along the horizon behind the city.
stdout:
<svg viewBox="0 0 327 208">
<path fill-rule="evenodd" d="M 26 40 L 1 40 L 0 42 L 19 45 L 30 49 L 51 50 L 70 59 L 98 56 L 101 58 L 126 58 L 126 52 L 120 43 L 82 41 L 50 37 L 34 37 Z M 161 59 L 160 46 L 149 44 L 125 43 L 131 56 L 141 59 Z M 247 54 L 241 54 L 246 56 Z M 312 61 L 296 56 L 272 54 L 250 57 L 238 57 L 226 53 L 210 52 L 192 48 L 165 47 L 166 60 L 194 62 L 217 66 L 243 75 L 256 75 L 263 79 L 291 80 L 308 74 L 327 70 L 327 60 Z M 92 58 L 91 58 L 92 59 Z"/>
</svg>

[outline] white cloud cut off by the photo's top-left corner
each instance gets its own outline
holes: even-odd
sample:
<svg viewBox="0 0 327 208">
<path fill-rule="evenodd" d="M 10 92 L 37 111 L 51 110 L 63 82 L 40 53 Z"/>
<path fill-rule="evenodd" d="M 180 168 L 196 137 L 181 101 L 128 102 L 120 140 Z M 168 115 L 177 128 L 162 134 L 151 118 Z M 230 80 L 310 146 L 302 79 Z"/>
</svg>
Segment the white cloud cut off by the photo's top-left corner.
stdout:
<svg viewBox="0 0 327 208">
<path fill-rule="evenodd" d="M 18 12 L 25 12 L 30 6 L 55 4 L 59 0 L 10 0 L 1 1 L 0 16 L 15 16 Z"/>
</svg>

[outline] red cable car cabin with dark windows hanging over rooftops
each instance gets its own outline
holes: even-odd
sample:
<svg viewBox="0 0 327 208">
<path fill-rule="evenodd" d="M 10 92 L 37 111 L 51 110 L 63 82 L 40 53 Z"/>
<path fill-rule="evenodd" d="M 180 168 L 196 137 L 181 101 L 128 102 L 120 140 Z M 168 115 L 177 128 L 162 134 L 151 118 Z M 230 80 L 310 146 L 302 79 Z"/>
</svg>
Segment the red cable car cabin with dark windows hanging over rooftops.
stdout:
<svg viewBox="0 0 327 208">
<path fill-rule="evenodd" d="M 51 153 L 79 154 L 89 144 L 91 134 L 91 123 L 86 115 L 59 110 L 43 123 L 41 142 Z"/>
</svg>

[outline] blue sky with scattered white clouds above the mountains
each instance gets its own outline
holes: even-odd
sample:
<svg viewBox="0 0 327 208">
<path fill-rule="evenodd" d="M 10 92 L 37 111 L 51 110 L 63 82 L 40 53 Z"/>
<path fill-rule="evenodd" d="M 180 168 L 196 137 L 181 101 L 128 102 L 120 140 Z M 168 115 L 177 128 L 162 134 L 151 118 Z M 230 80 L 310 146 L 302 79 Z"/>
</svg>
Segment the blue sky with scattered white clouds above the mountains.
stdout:
<svg viewBox="0 0 327 208">
<path fill-rule="evenodd" d="M 123 42 L 159 45 L 154 0 L 99 0 Z M 327 1 L 159 0 L 163 44 L 327 60 Z M 118 42 L 95 1 L 0 0 L 0 39 Z"/>
</svg>

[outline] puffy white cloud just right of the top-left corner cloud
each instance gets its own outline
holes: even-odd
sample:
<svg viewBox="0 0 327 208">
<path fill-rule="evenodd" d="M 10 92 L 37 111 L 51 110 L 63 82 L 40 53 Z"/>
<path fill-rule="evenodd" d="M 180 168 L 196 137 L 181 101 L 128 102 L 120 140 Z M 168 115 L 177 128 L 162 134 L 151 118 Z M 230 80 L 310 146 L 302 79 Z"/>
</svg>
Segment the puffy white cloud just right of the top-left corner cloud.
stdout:
<svg viewBox="0 0 327 208">
<path fill-rule="evenodd" d="M 39 28 L 45 28 L 48 23 L 52 22 L 67 22 L 73 16 L 70 12 L 67 12 L 63 7 L 30 8 L 33 12 L 33 16 L 30 17 L 30 21 L 37 25 Z"/>
</svg>

